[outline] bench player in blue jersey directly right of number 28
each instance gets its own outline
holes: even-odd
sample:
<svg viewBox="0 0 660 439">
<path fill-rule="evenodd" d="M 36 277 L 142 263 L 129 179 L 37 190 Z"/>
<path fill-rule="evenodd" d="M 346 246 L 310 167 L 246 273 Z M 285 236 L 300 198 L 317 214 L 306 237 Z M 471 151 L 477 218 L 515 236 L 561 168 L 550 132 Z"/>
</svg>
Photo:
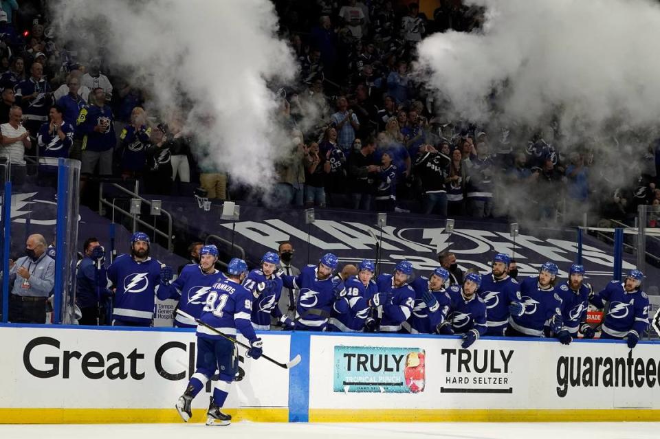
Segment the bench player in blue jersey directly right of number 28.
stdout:
<svg viewBox="0 0 660 439">
<path fill-rule="evenodd" d="M 415 306 L 404 329 L 410 334 L 434 334 L 439 324 L 445 321 L 451 300 L 444 289 L 450 273 L 443 267 L 434 269 L 430 278 L 419 276 L 412 281 L 415 290 Z"/>
</svg>

